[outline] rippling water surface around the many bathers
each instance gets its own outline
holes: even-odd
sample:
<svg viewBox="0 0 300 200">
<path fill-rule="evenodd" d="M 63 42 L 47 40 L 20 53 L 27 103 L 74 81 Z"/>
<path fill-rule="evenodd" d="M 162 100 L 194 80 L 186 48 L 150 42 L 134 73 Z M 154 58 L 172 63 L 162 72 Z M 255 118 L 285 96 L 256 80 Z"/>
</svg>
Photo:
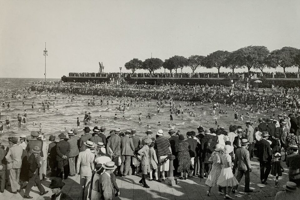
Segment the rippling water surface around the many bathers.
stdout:
<svg viewBox="0 0 300 200">
<path fill-rule="evenodd" d="M 30 87 L 33 81 L 38 81 L 43 79 L 38 78 L 0 78 L 0 85 L 2 91 L 4 89 L 19 89 Z M 51 81 L 59 81 L 60 79 L 47 79 Z M 9 82 L 9 83 L 8 83 Z M 151 102 L 143 103 L 144 107 L 139 107 L 139 105 L 133 99 L 133 104 L 136 105 L 130 106 L 129 110 L 126 110 L 125 113 L 120 113 L 115 108 L 119 106 L 121 98 L 119 98 L 119 103 L 114 100 L 113 104 L 109 101 L 109 105 L 106 105 L 106 100 L 103 100 L 105 105 L 100 106 L 100 97 L 95 96 L 95 106 L 88 106 L 88 99 L 92 99 L 93 97 L 90 95 L 84 96 L 76 96 L 75 101 L 71 103 L 71 95 L 70 98 L 66 94 L 58 94 L 58 99 L 55 100 L 55 95 L 51 94 L 50 98 L 50 108 L 46 107 L 46 112 L 42 111 L 42 100 L 46 100 L 47 93 L 43 93 L 41 95 L 36 95 L 35 92 L 31 92 L 31 94 L 27 93 L 27 99 L 25 100 L 25 105 L 22 105 L 22 95 L 21 100 L 17 101 L 17 99 L 12 99 L 11 93 L 7 93 L 8 97 L 5 97 L 5 94 L 2 94 L 1 102 L 4 100 L 6 102 L 10 102 L 10 109 L 7 106 L 3 107 L 2 104 L 0 106 L 1 110 L 1 121 L 3 122 L 3 133 L 0 133 L 0 139 L 4 141 L 4 144 L 7 144 L 7 138 L 9 136 L 19 136 L 20 134 L 30 135 L 30 131 L 39 130 L 39 126 L 34 126 L 32 123 L 42 123 L 42 132 L 45 134 L 46 140 L 48 140 L 49 136 L 55 134 L 56 136 L 61 133 L 61 131 L 66 128 L 70 130 L 72 128 L 77 128 L 76 119 L 79 117 L 81 119 L 80 130 L 84 128 L 83 118 L 84 112 L 90 112 L 92 114 L 92 123 L 89 123 L 88 126 L 92 129 L 94 126 L 106 126 L 108 135 L 109 131 L 115 128 L 120 128 L 121 131 L 125 131 L 128 129 L 136 129 L 137 135 L 143 137 L 145 135 L 145 131 L 147 130 L 147 124 L 153 130 L 153 133 L 157 132 L 158 129 L 163 129 L 165 133 L 168 133 L 168 124 L 170 122 L 170 112 L 169 106 L 165 106 L 165 108 L 160 108 L 160 113 L 157 113 L 156 100 L 152 100 Z M 127 98 L 126 98 L 127 99 Z M 48 99 L 47 99 L 48 100 Z M 70 100 L 70 103 L 68 103 Z M 130 100 L 130 98 L 129 98 Z M 31 108 L 31 104 L 34 102 L 34 108 Z M 55 106 L 53 106 L 53 102 L 55 102 Z M 99 103 L 99 105 L 98 105 Z M 123 101 L 122 101 L 123 103 Z M 123 104 L 122 104 L 123 105 Z M 148 107 L 150 105 L 150 107 Z M 179 105 L 179 102 L 175 103 L 176 106 Z M 184 103 L 182 103 L 183 109 Z M 38 109 L 41 108 L 41 112 L 38 112 Z M 193 110 L 192 107 L 186 107 L 190 110 Z M 204 108 L 204 111 L 201 110 Z M 27 110 L 27 124 L 26 126 L 18 126 L 17 124 L 17 114 L 21 115 L 24 113 L 24 110 Z M 224 109 L 224 108 L 223 108 Z M 113 116 L 117 113 L 118 119 L 114 120 Z M 139 113 L 143 114 L 142 124 L 138 124 L 138 115 Z M 152 118 L 146 119 L 148 113 L 151 113 Z M 214 124 L 214 119 L 209 115 L 209 107 L 208 106 L 196 106 L 195 107 L 196 117 L 191 117 L 184 113 L 183 120 L 182 117 L 178 117 L 173 114 L 173 122 L 171 124 L 171 128 L 180 130 L 181 133 L 186 133 L 187 131 L 194 130 L 197 133 L 197 127 L 199 124 L 206 125 L 206 122 Z M 98 118 L 102 115 L 102 118 L 98 119 L 98 123 L 95 123 L 95 118 Z M 125 116 L 125 119 L 122 119 L 122 116 Z M 200 117 L 201 115 L 201 117 Z M 7 128 L 4 124 L 5 118 L 10 117 L 10 128 Z M 228 116 L 231 116 L 231 114 Z M 225 118 L 227 115 L 220 115 L 219 119 Z M 233 118 L 233 114 L 232 114 Z M 219 120 L 218 119 L 218 120 Z M 161 122 L 162 126 L 157 126 L 158 121 Z M 226 123 L 224 123 L 225 125 Z M 208 126 L 208 125 L 207 125 Z M 221 125 L 222 126 L 222 125 Z M 214 127 L 214 126 L 209 126 Z M 168 135 L 168 134 L 167 134 Z"/>
</svg>

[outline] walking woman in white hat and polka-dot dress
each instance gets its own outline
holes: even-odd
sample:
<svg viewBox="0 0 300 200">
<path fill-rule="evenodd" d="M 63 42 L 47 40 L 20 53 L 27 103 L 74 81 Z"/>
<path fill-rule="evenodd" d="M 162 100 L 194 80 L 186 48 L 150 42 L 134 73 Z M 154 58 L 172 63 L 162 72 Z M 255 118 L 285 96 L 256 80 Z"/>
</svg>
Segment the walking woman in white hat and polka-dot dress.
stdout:
<svg viewBox="0 0 300 200">
<path fill-rule="evenodd" d="M 222 165 L 221 165 L 221 150 L 224 148 L 221 144 L 217 144 L 215 151 L 212 152 L 211 157 L 208 159 L 209 161 L 212 161 L 212 169 L 210 173 L 208 174 L 208 177 L 206 179 L 205 184 L 208 186 L 208 190 L 206 192 L 207 196 L 210 196 L 210 190 L 212 187 L 217 186 L 217 180 L 220 176 Z M 219 187 L 219 194 L 223 195 L 222 187 Z"/>
</svg>

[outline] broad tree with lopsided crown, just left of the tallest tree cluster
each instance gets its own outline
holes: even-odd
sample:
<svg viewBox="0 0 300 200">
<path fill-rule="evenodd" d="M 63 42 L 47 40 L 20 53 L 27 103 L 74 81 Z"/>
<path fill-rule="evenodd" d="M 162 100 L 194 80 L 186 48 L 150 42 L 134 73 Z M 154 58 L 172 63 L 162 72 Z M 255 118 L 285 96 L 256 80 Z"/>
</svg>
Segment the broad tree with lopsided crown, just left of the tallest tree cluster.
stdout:
<svg viewBox="0 0 300 200">
<path fill-rule="evenodd" d="M 206 68 L 217 68 L 219 74 L 220 68 L 224 66 L 224 62 L 228 54 L 228 51 L 215 51 L 207 55 L 207 57 L 203 60 L 203 64 Z"/>
</svg>

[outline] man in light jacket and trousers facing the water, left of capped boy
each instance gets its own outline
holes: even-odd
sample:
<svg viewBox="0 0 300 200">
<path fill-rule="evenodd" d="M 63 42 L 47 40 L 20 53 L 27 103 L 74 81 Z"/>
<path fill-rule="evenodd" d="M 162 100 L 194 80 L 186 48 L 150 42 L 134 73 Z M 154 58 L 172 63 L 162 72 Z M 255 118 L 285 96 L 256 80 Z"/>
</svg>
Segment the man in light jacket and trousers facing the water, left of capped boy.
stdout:
<svg viewBox="0 0 300 200">
<path fill-rule="evenodd" d="M 131 157 L 135 150 L 132 138 L 129 138 L 130 130 L 125 131 L 125 136 L 121 138 L 121 166 L 119 176 L 126 176 L 129 172 Z M 124 165 L 125 163 L 125 165 Z M 122 174 L 123 173 L 123 174 Z"/>
</svg>

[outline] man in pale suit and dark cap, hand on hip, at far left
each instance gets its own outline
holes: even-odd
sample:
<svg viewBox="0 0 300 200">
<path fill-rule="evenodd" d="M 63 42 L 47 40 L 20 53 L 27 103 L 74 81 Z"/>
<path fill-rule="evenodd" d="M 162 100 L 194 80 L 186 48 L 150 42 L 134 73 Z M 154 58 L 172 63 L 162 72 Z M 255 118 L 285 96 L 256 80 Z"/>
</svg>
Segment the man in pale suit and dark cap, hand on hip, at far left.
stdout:
<svg viewBox="0 0 300 200">
<path fill-rule="evenodd" d="M 19 179 L 22 166 L 23 148 L 17 145 L 17 137 L 13 137 L 11 141 L 13 146 L 9 148 L 5 158 L 7 160 L 7 169 L 9 169 L 12 193 L 17 194 L 20 190 Z"/>
</svg>

